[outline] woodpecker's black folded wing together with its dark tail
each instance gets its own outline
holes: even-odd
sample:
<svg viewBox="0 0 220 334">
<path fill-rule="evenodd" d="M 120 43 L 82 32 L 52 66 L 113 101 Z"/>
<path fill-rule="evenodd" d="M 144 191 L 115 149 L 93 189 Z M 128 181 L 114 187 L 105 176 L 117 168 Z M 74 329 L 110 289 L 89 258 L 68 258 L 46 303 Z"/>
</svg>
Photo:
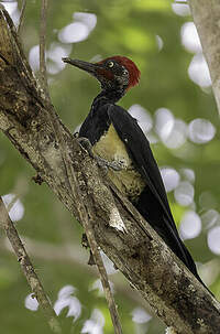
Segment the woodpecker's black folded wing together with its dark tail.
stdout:
<svg viewBox="0 0 220 334">
<path fill-rule="evenodd" d="M 157 226 L 154 226 L 154 222 L 152 224 L 152 222 L 148 220 L 148 223 L 152 224 L 165 243 L 182 261 L 185 262 L 197 279 L 201 281 L 188 249 L 179 238 L 170 213 L 164 183 L 150 148 L 148 140 L 139 127 L 138 121 L 123 108 L 116 105 L 108 105 L 108 115 L 134 165 L 146 182 L 147 195 L 143 197 L 143 200 L 150 198 L 150 202 L 153 203 L 153 209 L 162 213 L 160 222 L 156 222 Z M 148 193 L 151 194 L 148 195 Z M 147 203 L 142 201 L 141 207 L 144 205 L 147 207 Z"/>
</svg>

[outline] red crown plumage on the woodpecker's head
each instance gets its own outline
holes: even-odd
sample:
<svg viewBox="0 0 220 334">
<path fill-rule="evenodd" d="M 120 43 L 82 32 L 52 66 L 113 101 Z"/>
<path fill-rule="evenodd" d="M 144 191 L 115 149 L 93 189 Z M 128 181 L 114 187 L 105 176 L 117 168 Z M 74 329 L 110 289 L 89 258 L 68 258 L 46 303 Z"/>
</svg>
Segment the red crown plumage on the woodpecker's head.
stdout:
<svg viewBox="0 0 220 334">
<path fill-rule="evenodd" d="M 112 66 L 111 66 L 111 63 L 113 64 Z M 109 78 L 111 77 L 111 74 L 112 74 L 112 78 L 113 78 L 113 74 L 114 74 L 114 72 L 117 72 L 116 64 L 119 67 L 122 66 L 123 68 L 125 68 L 129 73 L 129 84 L 128 84 L 127 90 L 139 84 L 141 72 L 139 71 L 139 68 L 134 64 L 134 62 L 132 62 L 128 57 L 117 55 L 117 56 L 108 57 L 101 62 L 98 62 L 97 64 L 100 64 L 100 65 L 103 65 L 105 67 L 107 67 L 107 68 L 105 68 L 106 75 L 107 75 L 107 77 L 109 76 Z"/>
</svg>

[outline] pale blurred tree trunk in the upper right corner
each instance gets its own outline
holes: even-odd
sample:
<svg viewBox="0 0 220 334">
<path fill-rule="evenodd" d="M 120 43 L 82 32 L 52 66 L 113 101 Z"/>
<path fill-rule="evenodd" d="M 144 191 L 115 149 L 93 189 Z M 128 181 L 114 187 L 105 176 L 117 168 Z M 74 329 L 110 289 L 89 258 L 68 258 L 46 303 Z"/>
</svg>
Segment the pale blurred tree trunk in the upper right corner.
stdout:
<svg viewBox="0 0 220 334">
<path fill-rule="evenodd" d="M 189 0 L 220 112 L 220 1 Z"/>
</svg>

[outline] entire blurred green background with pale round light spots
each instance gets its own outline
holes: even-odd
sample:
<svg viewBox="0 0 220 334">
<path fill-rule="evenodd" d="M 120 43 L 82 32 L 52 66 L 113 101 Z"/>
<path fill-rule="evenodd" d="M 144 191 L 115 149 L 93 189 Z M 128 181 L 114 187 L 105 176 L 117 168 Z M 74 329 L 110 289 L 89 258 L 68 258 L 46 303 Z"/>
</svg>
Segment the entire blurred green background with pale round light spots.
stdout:
<svg viewBox="0 0 220 334">
<path fill-rule="evenodd" d="M 21 1 L 0 1 L 18 23 Z M 40 2 L 28 1 L 22 40 L 37 76 Z M 47 69 L 53 104 L 73 131 L 89 111 L 98 84 L 63 56 L 131 57 L 141 83 L 120 101 L 140 120 L 162 170 L 182 237 L 199 273 L 220 298 L 219 116 L 187 4 L 168 0 L 50 1 Z M 65 333 L 112 333 L 95 268 L 80 246 L 81 227 L 0 133 L 0 194 L 31 255 Z M 124 333 L 165 333 L 147 304 L 105 258 Z M 51 333 L 0 230 L 0 323 L 7 334 Z M 31 310 L 32 311 L 31 311 Z M 35 311 L 34 311 L 35 310 Z"/>
</svg>

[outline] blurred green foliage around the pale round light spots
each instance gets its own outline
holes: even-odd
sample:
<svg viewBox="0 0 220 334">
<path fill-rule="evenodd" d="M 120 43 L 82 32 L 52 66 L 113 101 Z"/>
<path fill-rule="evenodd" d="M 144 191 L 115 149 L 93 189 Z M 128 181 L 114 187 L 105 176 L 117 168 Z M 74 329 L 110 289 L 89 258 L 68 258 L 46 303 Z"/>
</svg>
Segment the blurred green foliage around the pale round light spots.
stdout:
<svg viewBox="0 0 220 334">
<path fill-rule="evenodd" d="M 22 40 L 26 55 L 38 44 L 41 1 L 28 1 Z M 19 3 L 21 7 L 21 3 Z M 89 61 L 97 55 L 106 57 L 121 54 L 138 63 L 141 72 L 140 86 L 132 89 L 120 105 L 129 108 L 140 104 L 147 109 L 154 119 L 157 108 L 168 108 L 175 118 L 189 123 L 195 118 L 206 118 L 218 129 L 219 119 L 213 97 L 194 84 L 188 74 L 188 65 L 193 54 L 188 53 L 180 42 L 180 28 L 190 21 L 190 17 L 179 17 L 172 11 L 170 1 L 164 0 L 78 0 L 51 1 L 47 24 L 47 47 L 59 43 L 59 31 L 73 22 L 75 12 L 94 13 L 97 25 L 88 39 L 74 43 L 72 57 Z M 164 45 L 158 51 L 158 35 Z M 62 56 L 62 55 L 61 55 Z M 59 60 L 62 63 L 62 61 Z M 36 74 L 37 75 L 37 74 Z M 98 93 L 94 78 L 70 66 L 50 74 L 51 95 L 57 112 L 69 129 L 85 119 L 92 98 Z M 153 129 L 155 134 L 155 129 Z M 157 136 L 156 136 L 157 137 Z M 208 143 L 198 144 L 187 139 L 177 149 L 168 149 L 162 141 L 153 144 L 153 151 L 161 166 L 172 166 L 179 172 L 183 168 L 191 169 L 196 175 L 195 203 L 180 206 L 173 194 L 169 194 L 170 206 L 177 225 L 183 215 L 193 207 L 198 215 L 208 209 L 219 209 L 220 203 L 220 155 L 219 133 Z M 22 236 L 32 240 L 48 243 L 55 247 L 73 244 L 80 248 L 81 227 L 59 204 L 46 185 L 34 184 L 35 174 L 7 138 L 0 133 L 0 193 L 18 193 L 23 205 L 24 216 L 18 222 Z M 207 206 L 201 205 L 201 194 L 208 192 L 213 198 Z M 204 203 L 204 202 L 202 202 Z M 218 222 L 215 224 L 219 224 Z M 207 247 L 207 233 L 210 226 L 204 226 L 202 233 L 187 241 L 187 246 L 199 262 L 217 260 Z M 1 233 L 0 244 L 3 241 Z M 112 333 L 110 316 L 106 301 L 89 287 L 95 276 L 86 266 L 72 262 L 70 256 L 46 260 L 43 255 L 33 255 L 33 261 L 50 299 L 54 303 L 61 288 L 72 284 L 77 288 L 75 295 L 82 305 L 80 317 L 73 324 L 73 317 L 66 317 L 66 309 L 61 319 L 66 333 L 80 333 L 92 310 L 99 309 L 105 319 L 105 333 Z M 86 263 L 85 263 L 86 265 Z M 208 279 L 209 281 L 209 279 Z M 220 294 L 220 277 L 217 272 L 210 279 L 213 292 Z M 163 326 L 157 319 L 138 325 L 132 322 L 131 312 L 139 306 L 131 297 L 130 287 L 124 283 L 116 299 L 119 305 L 124 333 L 162 333 Z M 50 333 L 42 314 L 24 308 L 24 299 L 30 293 L 19 265 L 13 256 L 2 246 L 0 254 L 0 321 L 7 334 Z M 161 332 L 160 332 L 161 331 Z"/>
</svg>

